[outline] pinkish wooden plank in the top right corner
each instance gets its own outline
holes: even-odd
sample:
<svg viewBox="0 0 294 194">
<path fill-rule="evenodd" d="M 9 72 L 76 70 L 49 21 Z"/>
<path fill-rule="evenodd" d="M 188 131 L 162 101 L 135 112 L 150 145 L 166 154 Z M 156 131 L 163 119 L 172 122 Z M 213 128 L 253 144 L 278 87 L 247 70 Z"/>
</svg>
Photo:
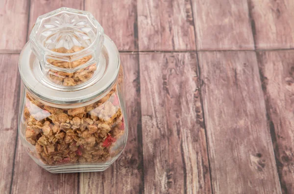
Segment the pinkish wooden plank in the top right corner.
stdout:
<svg viewBox="0 0 294 194">
<path fill-rule="evenodd" d="M 294 1 L 248 0 L 257 49 L 294 47 Z"/>
</svg>

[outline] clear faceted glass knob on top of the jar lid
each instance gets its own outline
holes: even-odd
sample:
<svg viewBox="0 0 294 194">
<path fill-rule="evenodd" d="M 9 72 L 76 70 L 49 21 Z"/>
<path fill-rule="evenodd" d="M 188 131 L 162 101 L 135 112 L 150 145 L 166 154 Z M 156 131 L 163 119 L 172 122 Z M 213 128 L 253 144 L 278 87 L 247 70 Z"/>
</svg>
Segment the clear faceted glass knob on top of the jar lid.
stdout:
<svg viewBox="0 0 294 194">
<path fill-rule="evenodd" d="M 62 7 L 40 16 L 29 39 L 44 68 L 73 73 L 98 62 L 104 32 L 91 13 Z"/>
</svg>

